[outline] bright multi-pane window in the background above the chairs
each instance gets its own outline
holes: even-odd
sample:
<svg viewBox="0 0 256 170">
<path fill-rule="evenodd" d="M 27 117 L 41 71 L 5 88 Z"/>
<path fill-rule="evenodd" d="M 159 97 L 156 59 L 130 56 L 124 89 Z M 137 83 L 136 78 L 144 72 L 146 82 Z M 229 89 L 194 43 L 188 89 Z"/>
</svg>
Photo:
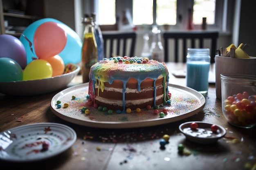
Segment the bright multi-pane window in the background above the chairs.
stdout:
<svg viewBox="0 0 256 170">
<path fill-rule="evenodd" d="M 124 24 L 126 17 L 139 28 L 168 25 L 171 29 L 186 29 L 189 9 L 192 9 L 194 29 L 201 29 L 207 18 L 207 29 L 221 30 L 227 0 L 92 0 L 100 25 Z M 92 12 L 94 12 L 92 11 Z M 224 23 L 225 24 L 225 23 Z"/>
</svg>

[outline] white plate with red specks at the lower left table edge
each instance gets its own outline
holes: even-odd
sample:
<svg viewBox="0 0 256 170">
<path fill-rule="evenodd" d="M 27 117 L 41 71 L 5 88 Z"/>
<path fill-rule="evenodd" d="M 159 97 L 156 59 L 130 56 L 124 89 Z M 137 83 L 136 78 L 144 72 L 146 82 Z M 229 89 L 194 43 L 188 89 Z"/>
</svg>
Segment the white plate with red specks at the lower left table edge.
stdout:
<svg viewBox="0 0 256 170">
<path fill-rule="evenodd" d="M 14 162 L 38 161 L 70 148 L 76 132 L 69 126 L 38 123 L 19 126 L 0 133 L 0 159 Z M 48 149 L 43 150 L 43 144 Z"/>
</svg>

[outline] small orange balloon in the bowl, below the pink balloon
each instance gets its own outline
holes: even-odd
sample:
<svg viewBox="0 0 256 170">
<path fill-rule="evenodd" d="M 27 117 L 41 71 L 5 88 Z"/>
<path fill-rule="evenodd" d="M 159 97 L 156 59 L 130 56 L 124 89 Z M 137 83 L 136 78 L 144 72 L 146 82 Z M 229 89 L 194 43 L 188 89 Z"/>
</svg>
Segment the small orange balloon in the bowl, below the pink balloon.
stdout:
<svg viewBox="0 0 256 170">
<path fill-rule="evenodd" d="M 65 64 L 59 55 L 44 59 L 52 66 L 52 77 L 62 75 L 64 72 Z"/>
</svg>

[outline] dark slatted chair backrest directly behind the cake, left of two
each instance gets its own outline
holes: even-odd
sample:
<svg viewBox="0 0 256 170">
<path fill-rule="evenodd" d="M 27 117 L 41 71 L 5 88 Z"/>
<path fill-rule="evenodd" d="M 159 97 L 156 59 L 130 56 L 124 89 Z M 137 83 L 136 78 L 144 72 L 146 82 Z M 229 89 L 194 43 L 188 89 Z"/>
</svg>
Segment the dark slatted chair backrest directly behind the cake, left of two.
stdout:
<svg viewBox="0 0 256 170">
<path fill-rule="evenodd" d="M 106 32 L 102 33 L 104 41 L 104 53 L 106 58 L 113 55 L 134 57 L 136 33 L 118 33 Z"/>
</svg>

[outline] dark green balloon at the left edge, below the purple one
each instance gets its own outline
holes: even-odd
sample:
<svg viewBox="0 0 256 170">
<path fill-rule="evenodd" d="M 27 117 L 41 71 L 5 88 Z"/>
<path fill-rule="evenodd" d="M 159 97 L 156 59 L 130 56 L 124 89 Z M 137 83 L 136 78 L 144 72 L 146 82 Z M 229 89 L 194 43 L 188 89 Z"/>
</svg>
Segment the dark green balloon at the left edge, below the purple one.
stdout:
<svg viewBox="0 0 256 170">
<path fill-rule="evenodd" d="M 11 58 L 0 58 L 0 82 L 21 81 L 22 76 L 22 68 L 18 62 Z"/>
</svg>

